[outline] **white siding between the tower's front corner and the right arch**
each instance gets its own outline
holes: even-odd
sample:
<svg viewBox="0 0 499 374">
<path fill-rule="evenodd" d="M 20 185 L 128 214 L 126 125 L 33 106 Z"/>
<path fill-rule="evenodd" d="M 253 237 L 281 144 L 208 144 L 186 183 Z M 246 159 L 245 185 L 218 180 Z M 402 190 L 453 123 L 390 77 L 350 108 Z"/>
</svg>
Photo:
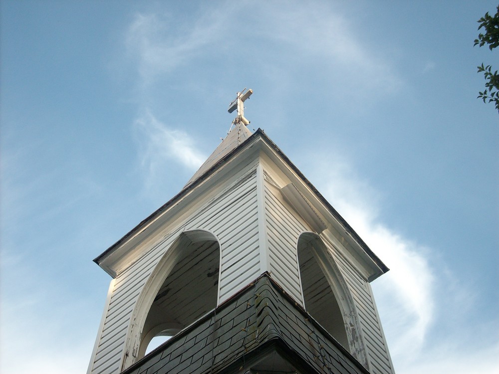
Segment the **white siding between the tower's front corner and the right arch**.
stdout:
<svg viewBox="0 0 499 374">
<path fill-rule="evenodd" d="M 270 274 L 296 302 L 303 305 L 296 243 L 300 233 L 309 228 L 305 227 L 305 223 L 294 212 L 288 210 L 278 193 L 268 182 L 265 183 L 265 223 Z"/>
</svg>

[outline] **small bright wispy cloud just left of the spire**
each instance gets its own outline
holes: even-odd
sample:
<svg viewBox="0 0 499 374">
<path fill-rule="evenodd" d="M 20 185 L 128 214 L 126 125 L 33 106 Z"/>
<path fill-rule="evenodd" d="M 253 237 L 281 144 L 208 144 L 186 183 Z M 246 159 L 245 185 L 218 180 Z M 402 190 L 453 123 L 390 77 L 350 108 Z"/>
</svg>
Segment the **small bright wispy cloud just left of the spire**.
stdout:
<svg viewBox="0 0 499 374">
<path fill-rule="evenodd" d="M 180 164 L 183 169 L 196 171 L 206 156 L 196 149 L 193 139 L 184 131 L 168 128 L 149 111 L 135 121 L 139 140 L 139 159 L 145 172 L 146 189 L 176 173 Z"/>
</svg>

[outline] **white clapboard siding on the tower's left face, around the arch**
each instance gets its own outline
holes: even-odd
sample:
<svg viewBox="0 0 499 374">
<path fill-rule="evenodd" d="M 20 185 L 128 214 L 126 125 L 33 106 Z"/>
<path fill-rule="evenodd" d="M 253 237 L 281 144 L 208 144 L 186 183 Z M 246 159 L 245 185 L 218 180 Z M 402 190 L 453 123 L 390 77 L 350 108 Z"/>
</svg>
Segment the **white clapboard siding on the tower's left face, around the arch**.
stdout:
<svg viewBox="0 0 499 374">
<path fill-rule="evenodd" d="M 255 168 L 186 222 L 171 230 L 161 242 L 146 249 L 137 261 L 117 275 L 91 374 L 120 372 L 135 303 L 167 249 L 182 231 L 191 229 L 209 230 L 220 240 L 222 261 L 219 303 L 255 279 L 260 272 Z"/>
</svg>

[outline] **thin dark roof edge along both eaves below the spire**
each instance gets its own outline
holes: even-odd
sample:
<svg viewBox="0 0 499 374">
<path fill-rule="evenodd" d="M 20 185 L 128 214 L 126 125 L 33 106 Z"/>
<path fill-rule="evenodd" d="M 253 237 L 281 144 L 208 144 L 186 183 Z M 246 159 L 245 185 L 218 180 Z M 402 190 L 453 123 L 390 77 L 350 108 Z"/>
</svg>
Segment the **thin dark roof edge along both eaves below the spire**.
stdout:
<svg viewBox="0 0 499 374">
<path fill-rule="evenodd" d="M 150 214 L 147 218 L 143 219 L 137 226 L 132 228 L 125 236 L 123 236 L 116 243 L 111 245 L 108 249 L 106 249 L 102 254 L 94 258 L 94 262 L 96 264 L 100 264 L 102 259 L 106 257 L 109 253 L 111 253 L 118 246 L 123 244 L 128 238 L 136 234 L 143 226 L 147 224 L 150 220 L 159 216 L 165 209 L 167 209 L 170 205 L 172 205 L 175 201 L 185 196 L 189 191 L 200 185 L 203 181 L 205 181 L 210 175 L 212 175 L 215 170 L 217 170 L 221 165 L 223 165 L 227 160 L 232 158 L 237 153 L 241 152 L 243 147 L 251 142 L 254 138 L 260 136 L 285 162 L 289 165 L 289 167 L 305 182 L 305 184 L 310 187 L 310 189 L 315 193 L 315 195 L 319 198 L 319 200 L 328 208 L 330 213 L 336 218 L 347 230 L 347 232 L 353 237 L 353 239 L 360 245 L 360 247 L 366 252 L 366 254 L 376 263 L 376 265 L 381 269 L 383 273 L 386 273 L 390 270 L 381 259 L 374 254 L 374 252 L 369 248 L 369 246 L 361 239 L 361 237 L 355 232 L 355 230 L 348 224 L 348 222 L 333 208 L 333 206 L 322 196 L 322 194 L 315 188 L 310 181 L 300 172 L 300 170 L 287 158 L 287 156 L 277 147 L 277 145 L 270 140 L 268 136 L 265 135 L 262 129 L 258 128 L 245 142 L 241 143 L 238 147 L 220 159 L 216 164 L 214 164 L 210 169 L 208 169 L 203 175 L 201 175 L 196 181 L 194 181 L 189 186 L 182 189 L 179 193 L 177 193 L 174 197 L 172 197 L 169 201 L 163 204 L 160 208 L 155 210 L 152 214 Z"/>
</svg>

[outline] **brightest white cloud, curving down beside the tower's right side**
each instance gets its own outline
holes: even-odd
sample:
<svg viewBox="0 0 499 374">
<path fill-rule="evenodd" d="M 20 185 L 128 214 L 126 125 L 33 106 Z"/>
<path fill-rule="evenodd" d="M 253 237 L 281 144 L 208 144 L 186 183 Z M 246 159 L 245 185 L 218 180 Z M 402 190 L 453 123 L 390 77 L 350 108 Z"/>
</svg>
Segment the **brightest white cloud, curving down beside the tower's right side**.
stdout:
<svg viewBox="0 0 499 374">
<path fill-rule="evenodd" d="M 338 157 L 334 157 L 339 160 Z M 392 355 L 417 354 L 432 322 L 433 274 L 425 257 L 427 250 L 407 240 L 380 222 L 378 196 L 368 185 L 358 181 L 348 164 L 335 162 L 322 168 L 322 193 L 390 268 L 377 282 L 382 282 L 383 304 L 390 304 L 390 327 L 398 331 L 391 342 Z M 390 295 L 385 300 L 385 295 Z M 385 328 L 386 329 L 386 328 Z"/>
</svg>

